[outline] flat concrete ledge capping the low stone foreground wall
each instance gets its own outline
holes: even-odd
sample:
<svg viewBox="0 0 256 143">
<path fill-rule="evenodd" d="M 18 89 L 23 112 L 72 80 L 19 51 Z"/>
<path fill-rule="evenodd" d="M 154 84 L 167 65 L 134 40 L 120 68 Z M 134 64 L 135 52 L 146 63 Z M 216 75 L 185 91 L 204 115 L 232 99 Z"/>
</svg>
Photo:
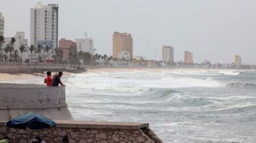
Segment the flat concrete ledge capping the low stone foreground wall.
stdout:
<svg viewBox="0 0 256 143">
<path fill-rule="evenodd" d="M 136 122 L 94 122 L 85 120 L 54 120 L 57 124 L 53 128 L 96 128 L 96 129 L 141 129 L 148 128 L 148 123 Z M 0 121 L 0 127 L 5 126 L 6 121 Z"/>
</svg>

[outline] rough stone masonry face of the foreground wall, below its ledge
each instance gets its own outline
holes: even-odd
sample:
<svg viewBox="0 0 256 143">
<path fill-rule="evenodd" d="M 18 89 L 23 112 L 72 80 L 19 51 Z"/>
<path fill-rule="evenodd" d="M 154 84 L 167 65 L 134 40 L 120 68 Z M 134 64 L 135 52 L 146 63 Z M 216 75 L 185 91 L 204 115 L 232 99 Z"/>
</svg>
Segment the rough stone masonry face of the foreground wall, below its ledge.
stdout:
<svg viewBox="0 0 256 143">
<path fill-rule="evenodd" d="M 145 133 L 146 134 L 145 134 Z M 148 135 L 150 134 L 150 136 Z M 162 142 L 155 137 L 150 129 L 94 129 L 94 128 L 49 128 L 31 130 L 31 137 L 40 136 L 47 143 L 62 142 L 64 136 L 68 136 L 69 143 L 139 143 L 139 142 Z M 28 131 L 24 129 L 14 129 L 0 127 L 0 138 L 9 136 L 12 143 L 25 143 L 28 140 Z"/>
</svg>

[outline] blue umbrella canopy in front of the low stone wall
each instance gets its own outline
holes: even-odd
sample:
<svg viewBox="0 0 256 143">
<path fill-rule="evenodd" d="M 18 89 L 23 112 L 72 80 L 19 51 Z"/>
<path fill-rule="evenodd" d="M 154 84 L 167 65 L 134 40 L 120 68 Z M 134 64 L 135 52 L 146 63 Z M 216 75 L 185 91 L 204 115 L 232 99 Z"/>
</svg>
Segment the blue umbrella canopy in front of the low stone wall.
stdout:
<svg viewBox="0 0 256 143">
<path fill-rule="evenodd" d="M 7 127 L 26 129 L 43 129 L 56 126 L 55 122 L 45 116 L 29 112 L 25 115 L 20 115 L 17 118 L 11 119 L 6 122 Z"/>
</svg>

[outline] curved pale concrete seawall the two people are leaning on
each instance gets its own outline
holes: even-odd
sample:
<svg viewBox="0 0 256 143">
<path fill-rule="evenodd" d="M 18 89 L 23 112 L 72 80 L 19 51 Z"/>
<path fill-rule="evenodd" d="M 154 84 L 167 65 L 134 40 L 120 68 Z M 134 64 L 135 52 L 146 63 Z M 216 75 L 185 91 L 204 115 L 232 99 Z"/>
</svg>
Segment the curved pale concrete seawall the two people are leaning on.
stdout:
<svg viewBox="0 0 256 143">
<path fill-rule="evenodd" d="M 62 86 L 0 83 L 0 120 L 9 120 L 30 111 L 51 119 L 73 119 Z"/>
</svg>

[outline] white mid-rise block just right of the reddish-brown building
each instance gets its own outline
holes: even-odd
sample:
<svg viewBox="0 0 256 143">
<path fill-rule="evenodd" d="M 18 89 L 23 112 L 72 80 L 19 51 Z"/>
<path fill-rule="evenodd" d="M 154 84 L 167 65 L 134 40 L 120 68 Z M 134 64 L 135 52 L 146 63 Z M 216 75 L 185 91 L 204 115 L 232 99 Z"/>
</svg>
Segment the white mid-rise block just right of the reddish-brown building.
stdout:
<svg viewBox="0 0 256 143">
<path fill-rule="evenodd" d="M 93 38 L 76 38 L 75 39 L 77 45 L 77 51 L 89 52 L 90 54 L 94 54 L 93 49 Z"/>
</svg>

